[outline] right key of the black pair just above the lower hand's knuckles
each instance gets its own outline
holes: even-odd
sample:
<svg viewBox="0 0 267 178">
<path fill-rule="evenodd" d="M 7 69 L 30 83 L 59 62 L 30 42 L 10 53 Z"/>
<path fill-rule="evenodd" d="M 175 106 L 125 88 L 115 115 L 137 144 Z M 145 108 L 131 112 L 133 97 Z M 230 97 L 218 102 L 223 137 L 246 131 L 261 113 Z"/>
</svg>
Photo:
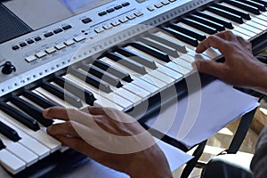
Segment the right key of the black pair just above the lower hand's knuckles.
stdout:
<svg viewBox="0 0 267 178">
<path fill-rule="evenodd" d="M 93 101 L 96 99 L 93 96 L 93 93 L 86 90 L 85 88 L 76 85 L 69 80 L 63 78 L 63 77 L 55 77 L 53 78 L 53 81 L 60 85 L 65 90 L 69 91 L 70 93 L 73 93 L 77 97 L 79 97 L 81 100 L 85 101 L 87 104 L 93 106 Z"/>
</svg>

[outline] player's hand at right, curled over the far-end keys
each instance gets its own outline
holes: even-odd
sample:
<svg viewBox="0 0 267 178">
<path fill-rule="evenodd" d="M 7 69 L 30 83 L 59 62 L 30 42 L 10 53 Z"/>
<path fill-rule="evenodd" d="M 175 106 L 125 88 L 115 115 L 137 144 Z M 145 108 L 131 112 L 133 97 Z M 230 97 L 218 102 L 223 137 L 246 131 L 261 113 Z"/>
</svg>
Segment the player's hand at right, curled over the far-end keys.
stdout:
<svg viewBox="0 0 267 178">
<path fill-rule="evenodd" d="M 210 47 L 218 49 L 225 61 L 196 61 L 198 71 L 219 77 L 231 85 L 262 87 L 259 82 L 266 79 L 263 78 L 266 76 L 266 67 L 254 57 L 249 42 L 227 30 L 208 36 L 198 44 L 196 52 L 203 53 Z"/>
</svg>

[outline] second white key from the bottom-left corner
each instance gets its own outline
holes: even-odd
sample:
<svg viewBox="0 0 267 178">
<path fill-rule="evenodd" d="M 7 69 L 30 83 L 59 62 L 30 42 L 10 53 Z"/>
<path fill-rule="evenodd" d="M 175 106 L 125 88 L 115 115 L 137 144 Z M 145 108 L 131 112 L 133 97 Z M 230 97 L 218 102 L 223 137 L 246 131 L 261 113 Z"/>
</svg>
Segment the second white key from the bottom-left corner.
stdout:
<svg viewBox="0 0 267 178">
<path fill-rule="evenodd" d="M 32 151 L 20 145 L 20 142 L 12 142 L 3 134 L 0 134 L 0 139 L 4 142 L 5 150 L 9 150 L 13 155 L 20 158 L 26 163 L 26 166 L 31 166 L 37 162 L 38 157 Z"/>
</svg>

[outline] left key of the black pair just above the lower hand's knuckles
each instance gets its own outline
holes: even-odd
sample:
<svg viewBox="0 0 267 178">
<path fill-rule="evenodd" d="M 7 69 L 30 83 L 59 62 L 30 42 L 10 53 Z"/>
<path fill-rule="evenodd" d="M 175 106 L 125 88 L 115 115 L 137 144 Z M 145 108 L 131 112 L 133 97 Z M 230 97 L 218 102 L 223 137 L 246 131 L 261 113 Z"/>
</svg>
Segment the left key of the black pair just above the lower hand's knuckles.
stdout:
<svg viewBox="0 0 267 178">
<path fill-rule="evenodd" d="M 44 90 L 46 90 L 47 92 L 53 93 L 62 101 L 69 102 L 76 108 L 81 108 L 83 106 L 82 101 L 77 96 L 73 95 L 72 93 L 69 93 L 68 91 L 64 91 L 62 88 L 59 88 L 56 85 L 44 82 L 41 87 L 44 88 Z"/>
</svg>

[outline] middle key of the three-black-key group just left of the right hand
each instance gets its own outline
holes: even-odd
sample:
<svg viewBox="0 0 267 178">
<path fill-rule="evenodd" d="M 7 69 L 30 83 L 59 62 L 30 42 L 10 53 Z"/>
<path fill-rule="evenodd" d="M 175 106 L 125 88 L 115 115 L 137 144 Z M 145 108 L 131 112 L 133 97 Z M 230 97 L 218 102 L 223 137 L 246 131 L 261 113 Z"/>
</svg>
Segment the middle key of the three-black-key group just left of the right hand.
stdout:
<svg viewBox="0 0 267 178">
<path fill-rule="evenodd" d="M 165 53 L 168 53 L 169 55 L 173 56 L 174 58 L 178 58 L 179 55 L 178 55 L 178 52 L 176 49 L 170 47 L 170 46 L 167 46 L 165 44 L 160 44 L 158 43 L 157 41 L 153 40 L 153 39 L 150 39 L 149 37 L 142 37 L 140 39 L 140 41 L 143 43 L 143 44 L 147 44 L 147 45 L 150 45 L 162 52 L 165 52 Z"/>
</svg>

